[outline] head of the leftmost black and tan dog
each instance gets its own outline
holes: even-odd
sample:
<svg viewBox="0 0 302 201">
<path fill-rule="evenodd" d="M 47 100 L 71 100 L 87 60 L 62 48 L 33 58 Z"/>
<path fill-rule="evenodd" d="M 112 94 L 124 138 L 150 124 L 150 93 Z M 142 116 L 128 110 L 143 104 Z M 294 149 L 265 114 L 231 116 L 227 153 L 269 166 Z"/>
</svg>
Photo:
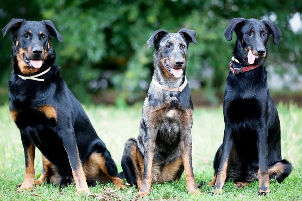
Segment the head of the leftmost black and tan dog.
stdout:
<svg viewBox="0 0 302 201">
<path fill-rule="evenodd" d="M 7 35 L 10 30 L 13 34 L 13 56 L 22 74 L 36 73 L 45 64 L 52 51 L 52 36 L 57 37 L 60 42 L 63 41 L 50 20 L 37 22 L 11 19 L 2 29 L 3 35 Z"/>
</svg>

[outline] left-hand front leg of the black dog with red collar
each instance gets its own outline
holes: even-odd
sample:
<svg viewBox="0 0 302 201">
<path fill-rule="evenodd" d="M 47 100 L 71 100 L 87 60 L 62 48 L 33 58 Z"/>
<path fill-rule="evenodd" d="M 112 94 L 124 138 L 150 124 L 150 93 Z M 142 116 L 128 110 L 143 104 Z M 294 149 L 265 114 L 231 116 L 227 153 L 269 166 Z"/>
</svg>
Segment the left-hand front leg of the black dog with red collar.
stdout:
<svg viewBox="0 0 302 201">
<path fill-rule="evenodd" d="M 217 171 L 215 186 L 212 190 L 212 193 L 218 193 L 218 194 L 222 193 L 222 189 L 224 188 L 225 179 L 226 179 L 226 169 L 228 166 L 228 160 L 230 158 L 233 144 L 234 144 L 234 139 L 232 136 L 232 130 L 230 126 L 226 124 L 224 135 L 223 135 L 221 159 Z"/>
</svg>

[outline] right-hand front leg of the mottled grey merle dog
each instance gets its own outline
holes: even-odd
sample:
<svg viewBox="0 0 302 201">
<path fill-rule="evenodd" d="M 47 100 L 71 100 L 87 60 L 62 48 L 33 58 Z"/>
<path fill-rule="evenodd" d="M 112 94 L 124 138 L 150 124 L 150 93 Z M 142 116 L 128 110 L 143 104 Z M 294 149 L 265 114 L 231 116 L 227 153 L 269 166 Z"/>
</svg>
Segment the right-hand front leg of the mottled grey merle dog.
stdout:
<svg viewBox="0 0 302 201">
<path fill-rule="evenodd" d="M 192 167 L 192 136 L 191 130 L 187 129 L 181 134 L 180 154 L 185 169 L 186 186 L 190 194 L 201 194 L 197 189 Z"/>
</svg>

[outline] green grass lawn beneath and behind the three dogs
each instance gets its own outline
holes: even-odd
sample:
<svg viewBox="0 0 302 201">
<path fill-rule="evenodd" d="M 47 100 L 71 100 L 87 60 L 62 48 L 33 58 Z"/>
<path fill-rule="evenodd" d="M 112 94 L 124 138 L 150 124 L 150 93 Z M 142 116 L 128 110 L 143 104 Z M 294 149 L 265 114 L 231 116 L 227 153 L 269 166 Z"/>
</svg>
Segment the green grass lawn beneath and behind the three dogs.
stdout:
<svg viewBox="0 0 302 201">
<path fill-rule="evenodd" d="M 85 107 L 90 120 L 101 139 L 106 143 L 116 165 L 121 171 L 120 160 L 124 143 L 130 137 L 137 137 L 141 117 L 141 104 L 132 108 Z M 184 177 L 179 182 L 152 185 L 149 198 L 142 200 L 301 200 L 302 199 L 302 108 L 295 105 L 279 105 L 281 120 L 282 156 L 293 165 L 293 171 L 282 183 L 270 183 L 272 193 L 257 196 L 258 182 L 237 190 L 232 181 L 225 184 L 222 195 L 211 196 L 209 186 L 203 186 L 202 195 L 190 195 L 186 190 Z M 196 182 L 210 182 L 214 173 L 212 160 L 223 138 L 223 114 L 220 108 L 195 108 L 193 138 L 193 169 Z M 16 192 L 16 185 L 24 177 L 24 152 L 19 130 L 11 120 L 8 106 L 0 107 L 0 200 L 97 200 L 96 197 L 77 195 L 75 186 L 59 191 L 58 186 L 43 184 L 32 192 Z M 42 171 L 42 159 L 36 150 L 36 175 Z M 91 193 L 105 196 L 104 189 L 111 191 L 111 198 L 131 200 L 136 189 L 114 190 L 111 183 L 90 187 Z M 102 194 L 103 193 L 103 194 Z M 36 195 L 36 196 L 35 196 Z M 39 196 L 37 196 L 39 195 Z M 115 197 L 115 198 L 114 198 Z M 107 197 L 108 198 L 108 197 Z"/>
</svg>

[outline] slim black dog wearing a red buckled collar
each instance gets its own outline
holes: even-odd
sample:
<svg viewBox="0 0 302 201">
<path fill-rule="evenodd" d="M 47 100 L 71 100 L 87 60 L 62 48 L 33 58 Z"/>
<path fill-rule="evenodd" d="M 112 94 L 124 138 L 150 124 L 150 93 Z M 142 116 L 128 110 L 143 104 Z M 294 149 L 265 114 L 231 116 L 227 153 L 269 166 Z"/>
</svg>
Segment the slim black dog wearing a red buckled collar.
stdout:
<svg viewBox="0 0 302 201">
<path fill-rule="evenodd" d="M 291 164 L 281 157 L 280 121 L 264 66 L 268 37 L 277 45 L 281 32 L 271 21 L 243 18 L 231 20 L 224 32 L 227 41 L 233 31 L 237 40 L 225 87 L 223 143 L 209 185 L 213 193 L 221 193 L 228 178 L 237 188 L 258 179 L 258 194 L 265 195 L 270 179 L 282 182 L 291 172 Z"/>
</svg>

